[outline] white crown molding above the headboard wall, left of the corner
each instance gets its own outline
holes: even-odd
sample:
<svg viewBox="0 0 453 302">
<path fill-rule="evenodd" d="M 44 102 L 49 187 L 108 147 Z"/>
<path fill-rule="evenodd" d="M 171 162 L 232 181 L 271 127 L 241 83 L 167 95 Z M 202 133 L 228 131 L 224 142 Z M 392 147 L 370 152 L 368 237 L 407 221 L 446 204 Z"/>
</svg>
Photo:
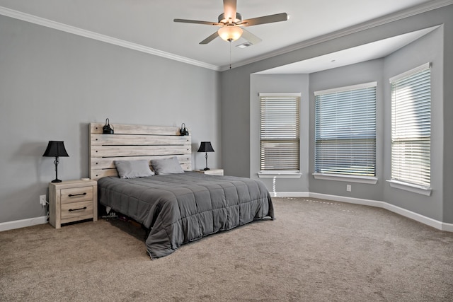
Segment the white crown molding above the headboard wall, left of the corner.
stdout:
<svg viewBox="0 0 453 302">
<path fill-rule="evenodd" d="M 33 23 L 33 24 L 37 24 L 37 25 L 42 25 L 47 28 L 52 28 L 55 30 L 61 30 L 61 31 L 64 31 L 65 33 L 71 33 L 74 35 L 79 35 L 81 37 L 88 37 L 89 39 L 98 40 L 101 42 L 117 45 L 120 47 L 129 48 L 130 50 L 137 50 L 138 52 L 154 54 L 159 57 L 164 57 L 166 59 L 172 59 L 174 61 L 183 62 L 183 63 L 195 65 L 195 66 L 200 66 L 200 67 L 206 68 L 206 69 L 212 69 L 215 71 L 220 70 L 220 67 L 216 66 L 216 65 L 207 64 L 205 62 L 200 62 L 200 61 L 197 61 L 194 59 L 188 59 L 187 57 L 178 56 L 177 54 L 171 54 L 169 52 L 163 52 L 161 50 L 155 50 L 154 48 L 151 48 L 151 47 L 147 47 L 144 45 L 139 45 L 137 43 L 117 39 L 115 37 L 110 37 L 108 35 L 102 35 L 100 33 L 94 33 L 89 30 L 76 28 L 75 26 L 51 21 L 49 19 L 41 18 L 38 16 L 33 16 L 28 13 L 23 13 L 21 11 L 15 11 L 13 9 L 6 8 L 3 6 L 0 6 L 0 15 L 15 18 L 15 19 L 18 19 L 21 21 L 25 21 L 25 22 L 29 22 L 29 23 Z"/>
</svg>

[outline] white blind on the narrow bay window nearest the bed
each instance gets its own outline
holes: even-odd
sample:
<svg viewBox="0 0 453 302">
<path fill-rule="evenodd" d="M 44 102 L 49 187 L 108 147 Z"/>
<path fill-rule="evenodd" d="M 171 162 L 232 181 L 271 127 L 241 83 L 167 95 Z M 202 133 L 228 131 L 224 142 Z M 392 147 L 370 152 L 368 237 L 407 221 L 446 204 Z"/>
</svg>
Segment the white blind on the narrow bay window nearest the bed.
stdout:
<svg viewBox="0 0 453 302">
<path fill-rule="evenodd" d="M 260 170 L 299 171 L 300 93 L 260 93 Z"/>
</svg>

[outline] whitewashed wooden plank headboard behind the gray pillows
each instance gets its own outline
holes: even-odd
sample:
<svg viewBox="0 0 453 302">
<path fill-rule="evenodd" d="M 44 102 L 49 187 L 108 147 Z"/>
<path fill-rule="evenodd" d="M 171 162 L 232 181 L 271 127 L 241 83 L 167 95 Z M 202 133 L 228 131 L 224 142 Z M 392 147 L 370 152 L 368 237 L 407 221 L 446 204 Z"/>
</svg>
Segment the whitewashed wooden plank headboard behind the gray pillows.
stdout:
<svg viewBox="0 0 453 302">
<path fill-rule="evenodd" d="M 191 137 L 179 127 L 113 124 L 115 134 L 103 134 L 103 123 L 90 124 L 90 178 L 118 175 L 115 160 L 176 156 L 183 170 L 192 170 Z"/>
</svg>

